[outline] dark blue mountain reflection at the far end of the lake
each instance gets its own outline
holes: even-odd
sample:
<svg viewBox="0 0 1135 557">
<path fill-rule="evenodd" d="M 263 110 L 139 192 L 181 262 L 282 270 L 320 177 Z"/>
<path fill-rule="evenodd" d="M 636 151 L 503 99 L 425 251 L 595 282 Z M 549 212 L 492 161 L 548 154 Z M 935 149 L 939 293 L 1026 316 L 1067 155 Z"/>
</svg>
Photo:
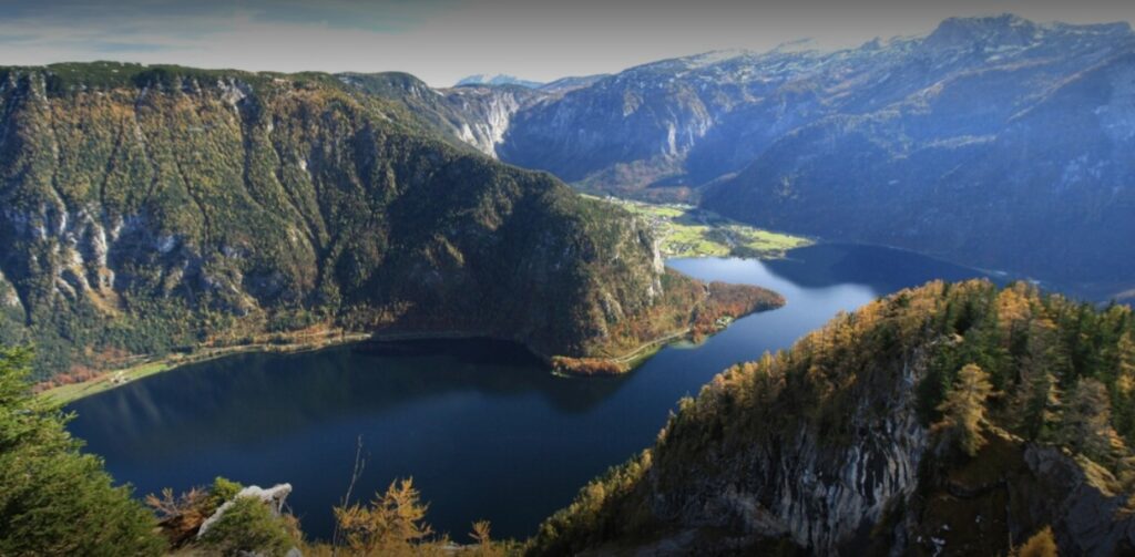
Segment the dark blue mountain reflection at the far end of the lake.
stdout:
<svg viewBox="0 0 1135 557">
<path fill-rule="evenodd" d="M 817 244 L 764 262 L 770 272 L 808 288 L 856 282 L 894 292 L 935 279 L 956 281 L 986 275 L 945 261 L 891 247 Z"/>
</svg>

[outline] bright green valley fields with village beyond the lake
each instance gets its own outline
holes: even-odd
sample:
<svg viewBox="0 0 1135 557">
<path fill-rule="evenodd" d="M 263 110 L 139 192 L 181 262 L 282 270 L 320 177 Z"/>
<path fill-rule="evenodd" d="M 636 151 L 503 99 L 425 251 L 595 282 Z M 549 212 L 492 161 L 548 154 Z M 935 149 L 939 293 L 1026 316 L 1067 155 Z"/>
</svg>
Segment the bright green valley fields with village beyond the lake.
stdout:
<svg viewBox="0 0 1135 557">
<path fill-rule="evenodd" d="M 650 222 L 667 258 L 734 255 L 755 259 L 783 258 L 784 252 L 812 244 L 808 238 L 754 228 L 692 205 L 658 205 L 616 197 L 596 197 L 615 203 Z"/>
</svg>

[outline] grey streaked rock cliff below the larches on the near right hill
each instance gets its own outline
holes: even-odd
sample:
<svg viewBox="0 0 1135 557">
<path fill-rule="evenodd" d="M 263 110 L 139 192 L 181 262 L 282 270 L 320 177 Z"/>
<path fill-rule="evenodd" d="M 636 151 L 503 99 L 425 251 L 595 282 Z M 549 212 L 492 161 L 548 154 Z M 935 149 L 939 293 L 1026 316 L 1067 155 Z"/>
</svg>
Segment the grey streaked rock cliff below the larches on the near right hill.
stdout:
<svg viewBox="0 0 1135 557">
<path fill-rule="evenodd" d="M 669 469 L 661 454 L 650 480 L 666 488 L 654 498 L 654 512 L 686 528 L 788 538 L 819 554 L 836 552 L 917 487 L 928 439 L 914 396 L 920 360 L 910 356 L 890 386 L 854 388 L 848 437 L 839 444 L 801 420 L 764 442 L 707 447 L 700 458 L 713 474 L 691 474 L 676 462 Z"/>
</svg>

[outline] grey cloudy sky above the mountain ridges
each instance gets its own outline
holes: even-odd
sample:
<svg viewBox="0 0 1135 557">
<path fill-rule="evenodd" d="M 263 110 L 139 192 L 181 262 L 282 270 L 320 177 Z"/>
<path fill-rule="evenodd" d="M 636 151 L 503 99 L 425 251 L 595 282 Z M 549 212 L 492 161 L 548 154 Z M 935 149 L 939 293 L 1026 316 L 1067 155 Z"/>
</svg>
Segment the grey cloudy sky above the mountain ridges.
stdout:
<svg viewBox="0 0 1135 557">
<path fill-rule="evenodd" d="M 0 65 L 400 70 L 448 86 L 614 73 L 720 49 L 920 35 L 953 16 L 1135 22 L 1132 0 L 0 0 Z"/>
</svg>

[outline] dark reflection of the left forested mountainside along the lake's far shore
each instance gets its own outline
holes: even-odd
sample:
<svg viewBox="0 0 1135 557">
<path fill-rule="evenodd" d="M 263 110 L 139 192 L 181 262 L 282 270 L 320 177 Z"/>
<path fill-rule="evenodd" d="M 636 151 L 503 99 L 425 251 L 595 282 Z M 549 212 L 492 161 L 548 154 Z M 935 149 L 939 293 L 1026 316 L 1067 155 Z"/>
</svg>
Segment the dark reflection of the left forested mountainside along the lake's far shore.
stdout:
<svg viewBox="0 0 1135 557">
<path fill-rule="evenodd" d="M 153 375 L 72 405 L 72 431 L 95 447 L 161 450 L 263 441 L 352 415 L 378 415 L 430 397 L 541 395 L 585 413 L 622 378 L 552 375 L 522 347 L 493 340 L 414 340 L 304 354 L 245 354 Z M 522 416 L 518 416 L 522 419 Z"/>
</svg>

